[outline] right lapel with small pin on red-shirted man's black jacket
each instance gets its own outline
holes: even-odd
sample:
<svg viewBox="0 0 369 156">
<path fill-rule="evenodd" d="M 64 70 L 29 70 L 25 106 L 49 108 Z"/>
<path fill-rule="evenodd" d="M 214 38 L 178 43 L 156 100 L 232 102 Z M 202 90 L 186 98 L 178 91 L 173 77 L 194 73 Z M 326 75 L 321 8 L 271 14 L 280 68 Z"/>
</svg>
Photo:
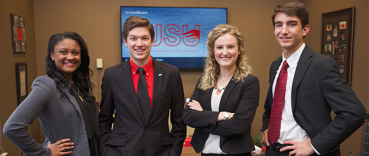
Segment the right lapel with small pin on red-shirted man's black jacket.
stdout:
<svg viewBox="0 0 369 156">
<path fill-rule="evenodd" d="M 152 88 L 151 109 L 150 109 L 148 120 L 151 117 L 151 114 L 154 111 L 156 104 L 158 103 L 159 94 L 160 94 L 161 87 L 163 84 L 163 77 L 165 74 L 164 71 L 161 70 L 162 66 L 159 64 L 158 61 L 152 58 L 152 63 L 154 65 L 154 85 Z"/>
</svg>

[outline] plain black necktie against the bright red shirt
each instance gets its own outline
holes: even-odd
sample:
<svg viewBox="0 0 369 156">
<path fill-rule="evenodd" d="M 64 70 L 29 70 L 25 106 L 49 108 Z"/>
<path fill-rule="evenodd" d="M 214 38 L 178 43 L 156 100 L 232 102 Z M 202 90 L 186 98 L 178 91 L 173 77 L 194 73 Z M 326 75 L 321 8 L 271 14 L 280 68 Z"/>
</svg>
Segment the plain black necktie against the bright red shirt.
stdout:
<svg viewBox="0 0 369 156">
<path fill-rule="evenodd" d="M 150 113 L 149 91 L 147 89 L 144 68 L 137 68 L 137 72 L 139 73 L 137 83 L 137 98 L 139 105 L 141 106 L 142 113 L 144 114 L 144 120 L 146 121 Z"/>
</svg>

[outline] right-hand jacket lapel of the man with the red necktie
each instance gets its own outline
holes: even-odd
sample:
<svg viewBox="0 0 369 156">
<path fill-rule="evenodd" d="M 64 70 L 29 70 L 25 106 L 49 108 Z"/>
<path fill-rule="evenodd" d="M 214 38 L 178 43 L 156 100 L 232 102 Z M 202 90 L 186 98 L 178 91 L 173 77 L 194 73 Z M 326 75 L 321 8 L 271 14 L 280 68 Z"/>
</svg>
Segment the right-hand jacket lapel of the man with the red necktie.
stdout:
<svg viewBox="0 0 369 156">
<path fill-rule="evenodd" d="M 311 50 L 308 46 L 305 46 L 299 58 L 299 62 L 297 63 L 295 75 L 293 77 L 291 91 L 292 111 L 296 104 L 297 86 L 299 86 L 301 79 L 304 77 L 306 70 L 311 63 L 311 60 L 309 59 L 311 56 L 313 56 L 313 50 Z"/>
</svg>

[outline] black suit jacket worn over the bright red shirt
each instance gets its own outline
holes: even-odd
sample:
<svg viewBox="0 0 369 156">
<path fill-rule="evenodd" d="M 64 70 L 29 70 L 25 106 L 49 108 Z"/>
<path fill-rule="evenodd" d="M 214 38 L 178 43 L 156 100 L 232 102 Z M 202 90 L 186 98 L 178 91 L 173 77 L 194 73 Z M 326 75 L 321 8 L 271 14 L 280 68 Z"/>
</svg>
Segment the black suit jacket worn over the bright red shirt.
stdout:
<svg viewBox="0 0 369 156">
<path fill-rule="evenodd" d="M 147 121 L 132 81 L 130 62 L 104 72 L 98 138 L 100 155 L 179 156 L 186 138 L 184 94 L 179 69 L 153 59 L 154 86 Z M 113 118 L 115 109 L 115 118 Z M 169 130 L 168 118 L 172 130 Z M 114 123 L 113 130 L 111 126 Z"/>
</svg>

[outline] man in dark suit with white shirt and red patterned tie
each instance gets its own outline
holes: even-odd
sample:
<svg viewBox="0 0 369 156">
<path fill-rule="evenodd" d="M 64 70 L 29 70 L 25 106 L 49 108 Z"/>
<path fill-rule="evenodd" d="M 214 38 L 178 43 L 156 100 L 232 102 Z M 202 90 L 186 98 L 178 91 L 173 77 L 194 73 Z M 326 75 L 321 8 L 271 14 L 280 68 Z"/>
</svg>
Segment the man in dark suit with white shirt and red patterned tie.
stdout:
<svg viewBox="0 0 369 156">
<path fill-rule="evenodd" d="M 305 45 L 309 13 L 304 4 L 280 4 L 272 21 L 283 53 L 270 66 L 262 135 L 262 144 L 270 147 L 266 155 L 340 156 L 339 144 L 364 123 L 365 107 L 337 62 Z"/>
</svg>

